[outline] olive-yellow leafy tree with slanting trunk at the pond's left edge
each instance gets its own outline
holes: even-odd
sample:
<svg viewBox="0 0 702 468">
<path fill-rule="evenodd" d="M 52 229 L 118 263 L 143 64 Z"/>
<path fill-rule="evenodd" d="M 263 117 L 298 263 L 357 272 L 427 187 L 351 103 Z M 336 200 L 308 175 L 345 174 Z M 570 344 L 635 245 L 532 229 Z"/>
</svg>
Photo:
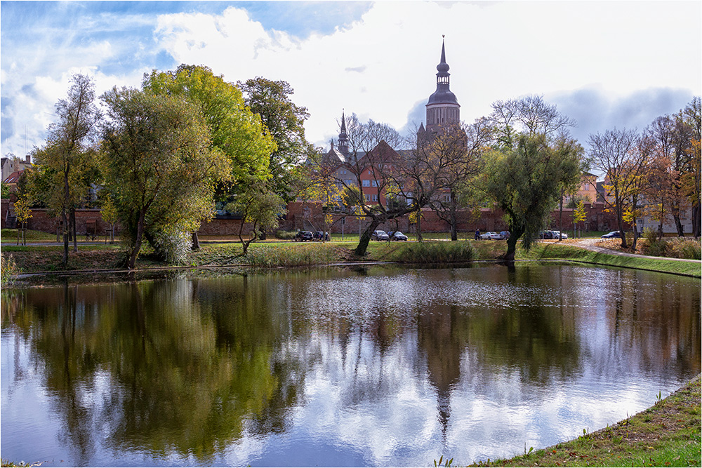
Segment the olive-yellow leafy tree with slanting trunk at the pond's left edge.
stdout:
<svg viewBox="0 0 702 468">
<path fill-rule="evenodd" d="M 173 95 L 113 88 L 102 95 L 105 188 L 128 236 L 133 269 L 144 236 L 192 232 L 213 213 L 215 175 L 229 159 L 210 145 L 200 109 Z"/>
</svg>

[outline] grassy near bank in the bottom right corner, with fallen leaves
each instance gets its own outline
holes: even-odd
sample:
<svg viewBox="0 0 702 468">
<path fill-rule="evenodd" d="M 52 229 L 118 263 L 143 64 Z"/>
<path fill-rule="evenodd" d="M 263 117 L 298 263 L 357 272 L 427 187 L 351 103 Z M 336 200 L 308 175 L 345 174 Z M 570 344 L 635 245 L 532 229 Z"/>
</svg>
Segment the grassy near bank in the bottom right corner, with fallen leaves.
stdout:
<svg viewBox="0 0 702 468">
<path fill-rule="evenodd" d="M 700 467 L 700 377 L 647 410 L 572 441 L 471 467 Z"/>
</svg>

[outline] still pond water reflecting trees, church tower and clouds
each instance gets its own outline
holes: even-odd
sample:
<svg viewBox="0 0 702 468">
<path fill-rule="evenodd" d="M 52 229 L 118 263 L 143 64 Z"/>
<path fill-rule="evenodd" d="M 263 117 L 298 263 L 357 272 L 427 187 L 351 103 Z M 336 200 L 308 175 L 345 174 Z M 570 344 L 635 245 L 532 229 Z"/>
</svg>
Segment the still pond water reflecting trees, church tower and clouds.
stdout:
<svg viewBox="0 0 702 468">
<path fill-rule="evenodd" d="M 572 265 L 5 290 L 1 452 L 43 466 L 467 464 L 700 373 L 700 281 Z"/>
</svg>

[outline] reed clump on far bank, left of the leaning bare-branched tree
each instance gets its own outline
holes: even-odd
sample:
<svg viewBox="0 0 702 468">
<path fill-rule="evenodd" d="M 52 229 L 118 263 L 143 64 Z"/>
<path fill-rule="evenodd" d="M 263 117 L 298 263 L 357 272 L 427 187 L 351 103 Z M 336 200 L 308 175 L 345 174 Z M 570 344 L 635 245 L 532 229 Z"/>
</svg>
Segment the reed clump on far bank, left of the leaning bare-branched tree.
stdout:
<svg viewBox="0 0 702 468">
<path fill-rule="evenodd" d="M 328 265 L 338 261 L 334 247 L 328 243 L 294 244 L 291 246 L 251 246 L 246 260 L 252 267 L 300 267 Z"/>
</svg>

